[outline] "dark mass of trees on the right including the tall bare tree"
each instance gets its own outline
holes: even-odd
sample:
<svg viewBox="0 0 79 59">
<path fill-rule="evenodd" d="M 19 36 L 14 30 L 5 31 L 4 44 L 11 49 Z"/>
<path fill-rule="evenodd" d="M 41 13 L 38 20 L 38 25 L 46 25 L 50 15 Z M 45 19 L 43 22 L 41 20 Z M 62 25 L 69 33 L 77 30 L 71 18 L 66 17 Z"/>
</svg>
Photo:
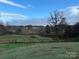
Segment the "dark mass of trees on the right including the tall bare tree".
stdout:
<svg viewBox="0 0 79 59">
<path fill-rule="evenodd" d="M 55 11 L 53 14 L 50 13 L 48 23 L 49 25 L 45 27 L 46 36 L 58 38 L 79 37 L 79 22 L 69 25 L 63 12 Z"/>
</svg>

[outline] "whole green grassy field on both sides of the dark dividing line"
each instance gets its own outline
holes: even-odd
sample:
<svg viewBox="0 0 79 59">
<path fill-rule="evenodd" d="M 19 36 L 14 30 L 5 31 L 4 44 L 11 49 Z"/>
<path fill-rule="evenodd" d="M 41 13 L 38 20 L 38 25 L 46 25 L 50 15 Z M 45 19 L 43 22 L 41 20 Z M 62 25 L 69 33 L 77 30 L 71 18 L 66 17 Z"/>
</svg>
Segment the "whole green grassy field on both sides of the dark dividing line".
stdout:
<svg viewBox="0 0 79 59">
<path fill-rule="evenodd" d="M 0 40 L 42 41 L 40 36 L 7 35 Z M 30 41 L 31 42 L 31 41 Z M 0 44 L 0 59 L 79 59 L 78 42 Z"/>
</svg>

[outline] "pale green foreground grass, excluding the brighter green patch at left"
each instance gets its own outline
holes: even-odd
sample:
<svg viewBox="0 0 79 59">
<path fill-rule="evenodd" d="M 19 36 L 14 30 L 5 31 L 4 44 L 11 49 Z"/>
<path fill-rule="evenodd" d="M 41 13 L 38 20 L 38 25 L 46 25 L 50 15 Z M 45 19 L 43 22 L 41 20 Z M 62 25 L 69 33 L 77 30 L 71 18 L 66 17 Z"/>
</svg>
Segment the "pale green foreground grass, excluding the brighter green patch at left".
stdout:
<svg viewBox="0 0 79 59">
<path fill-rule="evenodd" d="M 79 59 L 79 43 L 38 43 L 17 46 L 1 52 L 0 59 Z"/>
</svg>

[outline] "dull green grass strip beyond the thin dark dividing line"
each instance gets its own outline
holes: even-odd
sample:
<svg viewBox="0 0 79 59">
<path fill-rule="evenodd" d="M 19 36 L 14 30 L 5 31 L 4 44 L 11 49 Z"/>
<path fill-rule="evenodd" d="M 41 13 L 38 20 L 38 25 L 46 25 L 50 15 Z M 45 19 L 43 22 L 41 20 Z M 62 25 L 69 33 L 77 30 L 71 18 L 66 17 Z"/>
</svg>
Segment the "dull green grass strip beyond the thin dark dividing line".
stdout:
<svg viewBox="0 0 79 59">
<path fill-rule="evenodd" d="M 16 42 L 45 42 L 52 41 L 51 38 L 41 37 L 38 35 L 4 35 L 0 36 L 0 42 L 16 41 Z"/>
</svg>

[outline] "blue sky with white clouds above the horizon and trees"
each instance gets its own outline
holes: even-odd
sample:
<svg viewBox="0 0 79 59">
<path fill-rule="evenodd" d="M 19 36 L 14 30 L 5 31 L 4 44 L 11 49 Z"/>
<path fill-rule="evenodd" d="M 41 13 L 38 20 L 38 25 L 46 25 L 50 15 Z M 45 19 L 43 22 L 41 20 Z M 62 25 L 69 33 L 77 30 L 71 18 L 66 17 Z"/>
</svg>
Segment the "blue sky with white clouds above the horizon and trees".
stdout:
<svg viewBox="0 0 79 59">
<path fill-rule="evenodd" d="M 46 25 L 50 12 L 62 10 L 74 24 L 79 17 L 79 0 L 0 0 L 0 21 L 13 25 Z"/>
</svg>

